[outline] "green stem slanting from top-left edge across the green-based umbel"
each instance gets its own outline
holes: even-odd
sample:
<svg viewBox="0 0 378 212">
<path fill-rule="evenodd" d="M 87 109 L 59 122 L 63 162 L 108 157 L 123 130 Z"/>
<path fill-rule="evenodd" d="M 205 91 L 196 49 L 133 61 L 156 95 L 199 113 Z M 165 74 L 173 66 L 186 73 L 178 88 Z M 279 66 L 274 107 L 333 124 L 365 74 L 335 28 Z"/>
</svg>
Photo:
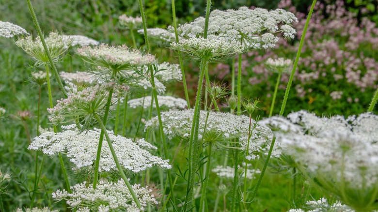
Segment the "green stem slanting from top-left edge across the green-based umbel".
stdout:
<svg viewBox="0 0 378 212">
<path fill-rule="evenodd" d="M 50 54 L 50 52 L 49 52 L 49 50 L 47 48 L 47 45 L 46 45 L 46 42 L 45 42 L 45 38 L 44 38 L 44 36 L 42 34 L 42 30 L 41 30 L 41 27 L 39 26 L 37 17 L 35 16 L 33 6 L 31 5 L 31 1 L 30 0 L 26 0 L 26 1 L 28 2 L 29 10 L 30 10 L 31 17 L 33 19 L 35 28 L 37 29 L 38 35 L 39 35 L 39 37 L 41 39 L 42 45 L 43 45 L 43 47 L 45 49 L 45 52 L 47 53 L 47 58 L 48 58 L 48 61 L 50 62 L 50 66 L 51 66 L 52 72 L 54 73 L 54 76 L 55 76 L 56 80 L 58 81 L 58 86 L 59 86 L 60 90 L 62 91 L 63 96 L 66 98 L 67 97 L 67 93 L 64 90 L 61 77 L 59 76 L 59 73 L 58 73 L 58 71 L 57 71 L 57 69 L 55 67 L 54 61 L 52 61 L 51 54 Z"/>
</svg>

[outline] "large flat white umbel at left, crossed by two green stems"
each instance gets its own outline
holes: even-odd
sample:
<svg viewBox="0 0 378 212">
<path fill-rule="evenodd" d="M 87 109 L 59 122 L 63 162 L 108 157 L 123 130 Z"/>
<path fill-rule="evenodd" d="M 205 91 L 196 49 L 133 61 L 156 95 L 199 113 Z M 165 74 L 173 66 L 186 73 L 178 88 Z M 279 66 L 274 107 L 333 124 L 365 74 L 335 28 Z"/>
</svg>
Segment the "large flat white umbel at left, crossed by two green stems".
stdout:
<svg viewBox="0 0 378 212">
<path fill-rule="evenodd" d="M 75 169 L 93 167 L 101 130 L 94 128 L 94 130 L 80 132 L 74 124 L 62 126 L 62 128 L 64 131 L 61 133 L 46 132 L 35 137 L 28 149 L 41 150 L 48 155 L 63 152 L 75 164 Z M 137 173 L 153 165 L 171 168 L 168 160 L 163 160 L 145 150 L 153 146 L 146 145 L 143 139 L 134 143 L 129 138 L 115 136 L 112 131 L 108 131 L 108 134 L 118 160 L 126 170 Z M 117 170 L 107 142 L 102 144 L 99 170 Z"/>
</svg>

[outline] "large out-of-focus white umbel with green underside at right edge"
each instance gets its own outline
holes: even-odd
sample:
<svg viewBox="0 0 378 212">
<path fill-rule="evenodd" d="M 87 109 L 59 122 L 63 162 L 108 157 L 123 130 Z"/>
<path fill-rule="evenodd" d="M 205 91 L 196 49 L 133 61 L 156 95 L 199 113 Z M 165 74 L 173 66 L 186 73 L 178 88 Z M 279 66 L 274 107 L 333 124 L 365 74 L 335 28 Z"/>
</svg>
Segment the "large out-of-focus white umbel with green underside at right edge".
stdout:
<svg viewBox="0 0 378 212">
<path fill-rule="evenodd" d="M 278 119 L 268 119 L 268 125 Z M 282 152 L 290 155 L 317 186 L 356 211 L 378 209 L 378 116 L 320 118 L 306 111 L 287 116 L 292 127 L 276 131 Z"/>
</svg>

